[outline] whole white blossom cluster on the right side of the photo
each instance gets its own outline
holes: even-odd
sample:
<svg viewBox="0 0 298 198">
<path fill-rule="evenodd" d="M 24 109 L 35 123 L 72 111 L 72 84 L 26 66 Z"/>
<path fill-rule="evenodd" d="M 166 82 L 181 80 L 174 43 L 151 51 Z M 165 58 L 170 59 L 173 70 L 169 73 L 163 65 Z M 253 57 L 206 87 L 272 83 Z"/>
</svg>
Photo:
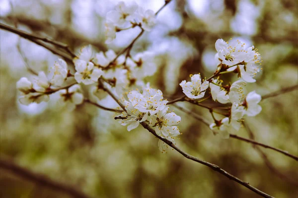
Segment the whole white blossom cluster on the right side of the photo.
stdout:
<svg viewBox="0 0 298 198">
<path fill-rule="evenodd" d="M 215 58 L 219 60 L 219 66 L 213 78 L 209 80 L 201 79 L 200 74 L 191 75 L 191 82 L 185 80 L 180 83 L 183 93 L 189 99 L 198 101 L 205 96 L 206 90 L 210 88 L 211 97 L 214 101 L 226 104 L 231 103 L 229 112 L 224 113 L 226 116 L 217 120 L 213 115 L 213 107 L 209 107 L 214 123 L 210 128 L 222 135 L 223 138 L 229 137 L 229 132 L 235 132 L 240 129 L 243 116 L 255 116 L 259 114 L 262 107 L 258 104 L 261 96 L 255 91 L 246 95 L 246 83 L 255 82 L 253 77 L 260 71 L 262 58 L 254 47 L 246 48 L 245 44 L 239 40 L 224 42 L 219 39 L 215 44 L 217 54 Z M 225 73 L 237 73 L 240 80 L 232 84 L 223 85 L 220 75 Z M 207 99 L 207 98 L 206 98 Z M 215 107 L 216 108 L 216 107 Z"/>
</svg>

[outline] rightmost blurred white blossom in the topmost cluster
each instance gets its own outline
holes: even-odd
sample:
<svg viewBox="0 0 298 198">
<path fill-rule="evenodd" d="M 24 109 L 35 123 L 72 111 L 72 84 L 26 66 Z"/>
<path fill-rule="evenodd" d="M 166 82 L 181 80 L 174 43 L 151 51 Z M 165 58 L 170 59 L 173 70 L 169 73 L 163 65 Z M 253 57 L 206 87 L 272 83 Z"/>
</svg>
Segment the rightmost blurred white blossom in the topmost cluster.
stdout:
<svg viewBox="0 0 298 198">
<path fill-rule="evenodd" d="M 155 25 L 155 13 L 150 9 L 145 11 L 143 7 L 139 7 L 137 13 L 137 17 L 142 25 L 142 28 L 146 31 L 150 31 Z"/>
</svg>

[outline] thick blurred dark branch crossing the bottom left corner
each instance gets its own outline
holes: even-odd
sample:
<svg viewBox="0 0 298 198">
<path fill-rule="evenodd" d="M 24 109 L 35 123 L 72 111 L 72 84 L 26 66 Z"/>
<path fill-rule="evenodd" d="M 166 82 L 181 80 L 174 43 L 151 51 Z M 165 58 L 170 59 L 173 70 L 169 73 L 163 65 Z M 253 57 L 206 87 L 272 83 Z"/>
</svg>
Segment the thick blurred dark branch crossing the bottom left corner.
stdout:
<svg viewBox="0 0 298 198">
<path fill-rule="evenodd" d="M 48 187 L 50 189 L 64 192 L 74 198 L 90 198 L 83 192 L 76 190 L 76 187 L 72 187 L 48 178 L 45 175 L 34 173 L 31 170 L 23 168 L 11 161 L 0 159 L 0 168 L 5 169 L 13 174 L 16 174 L 24 179 L 30 180 L 34 183 L 38 183 L 41 186 Z"/>
</svg>

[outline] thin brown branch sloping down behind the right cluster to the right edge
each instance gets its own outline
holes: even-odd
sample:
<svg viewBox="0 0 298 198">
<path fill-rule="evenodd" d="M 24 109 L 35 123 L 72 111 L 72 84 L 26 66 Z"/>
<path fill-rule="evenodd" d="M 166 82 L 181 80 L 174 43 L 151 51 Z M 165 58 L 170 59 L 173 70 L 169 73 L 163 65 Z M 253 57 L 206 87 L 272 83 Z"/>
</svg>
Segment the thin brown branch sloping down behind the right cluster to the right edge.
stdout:
<svg viewBox="0 0 298 198">
<path fill-rule="evenodd" d="M 178 106 L 177 104 L 175 104 L 175 106 L 177 108 L 179 108 L 181 111 L 193 116 L 195 119 L 203 122 L 204 124 L 206 124 L 209 128 L 209 125 L 210 123 L 205 120 L 201 115 L 198 115 L 197 113 L 193 112 L 193 111 L 190 111 L 190 110 L 187 110 L 181 106 Z M 211 130 L 211 129 L 210 129 Z M 237 135 L 234 135 L 234 134 L 230 134 L 230 138 L 234 138 L 234 139 L 237 139 L 237 140 L 241 140 L 241 141 L 244 141 L 244 142 L 248 142 L 248 143 L 251 143 L 251 144 L 254 144 L 254 145 L 258 145 L 258 146 L 261 146 L 261 147 L 264 147 L 264 148 L 269 148 L 269 149 L 272 149 L 272 150 L 275 150 L 275 151 L 278 151 L 284 155 L 287 155 L 293 159 L 295 159 L 296 161 L 298 161 L 298 156 L 295 156 L 293 154 L 290 154 L 288 151 L 285 151 L 285 150 L 281 150 L 279 148 L 274 148 L 274 147 L 271 147 L 271 146 L 268 146 L 268 145 L 265 145 L 265 144 L 262 144 L 262 143 L 258 143 L 256 141 L 253 141 L 253 140 L 250 140 L 250 139 L 246 139 L 246 138 L 242 138 L 240 136 L 237 136 Z"/>
</svg>

